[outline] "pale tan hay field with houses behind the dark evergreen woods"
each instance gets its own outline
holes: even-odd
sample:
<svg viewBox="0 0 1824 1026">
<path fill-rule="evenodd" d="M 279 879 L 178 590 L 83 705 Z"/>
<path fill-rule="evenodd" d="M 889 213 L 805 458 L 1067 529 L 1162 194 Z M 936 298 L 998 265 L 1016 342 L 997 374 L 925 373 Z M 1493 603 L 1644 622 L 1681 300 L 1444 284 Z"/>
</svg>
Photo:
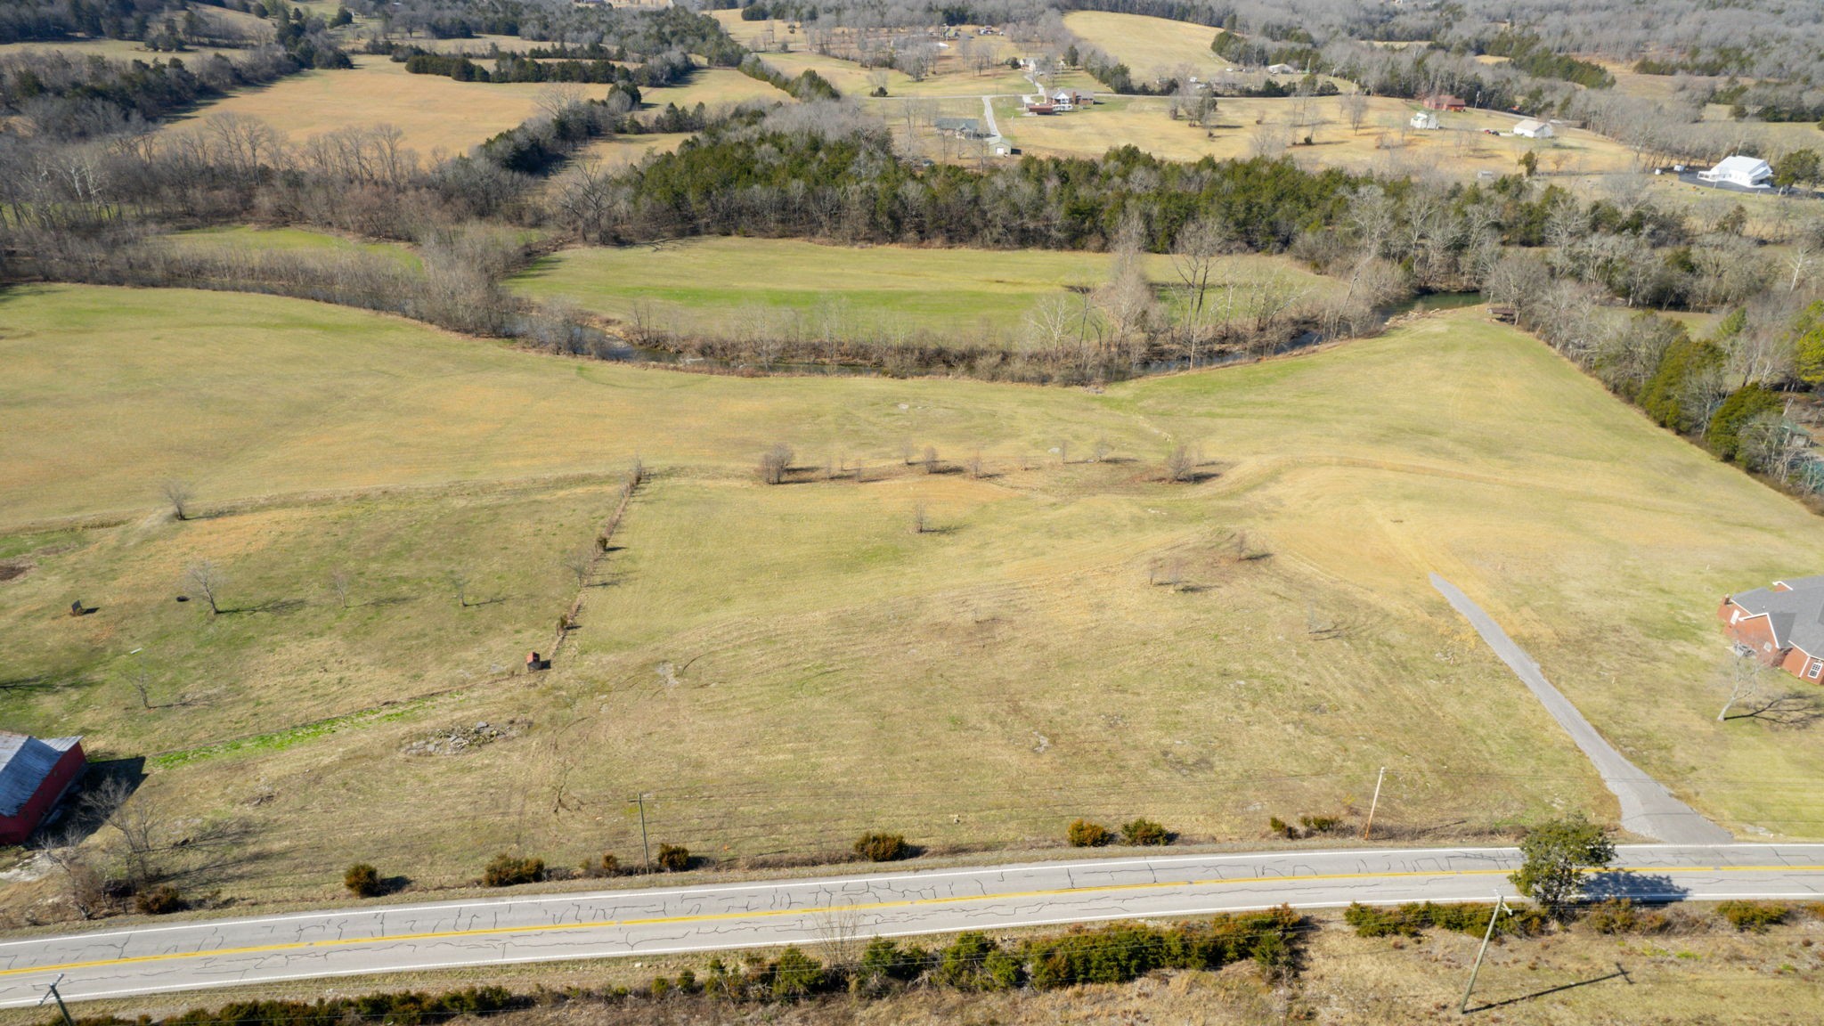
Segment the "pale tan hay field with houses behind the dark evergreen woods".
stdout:
<svg viewBox="0 0 1824 1026">
<path fill-rule="evenodd" d="M 1441 115 L 1437 131 L 1417 131 L 1406 119 L 1417 104 L 1368 97 L 1361 130 L 1350 128 L 1341 97 L 1222 99 L 1206 131 L 1171 120 L 1167 100 L 1153 97 L 1105 99 L 1094 108 L 1052 117 L 1031 117 L 1014 100 L 996 100 L 1001 135 L 1025 152 L 1060 157 L 1098 157 L 1122 144 L 1171 161 L 1202 157 L 1246 159 L 1286 153 L 1302 166 L 1337 166 L 1375 173 L 1434 173 L 1474 177 L 1476 172 L 1512 173 L 1534 150 L 1543 173 L 1607 173 L 1629 170 L 1632 153 L 1601 135 L 1563 130 L 1558 139 L 1532 141 L 1485 135 L 1510 131 L 1516 119 L 1490 111 Z M 1291 146 L 1310 135 L 1311 146 Z"/>
</svg>

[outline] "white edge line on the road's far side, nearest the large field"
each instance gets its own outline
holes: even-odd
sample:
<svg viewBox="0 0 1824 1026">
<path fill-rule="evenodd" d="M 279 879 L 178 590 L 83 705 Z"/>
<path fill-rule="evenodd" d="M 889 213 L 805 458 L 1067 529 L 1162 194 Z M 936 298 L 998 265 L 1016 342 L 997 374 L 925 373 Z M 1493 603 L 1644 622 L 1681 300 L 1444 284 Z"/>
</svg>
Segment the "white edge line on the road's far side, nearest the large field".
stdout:
<svg viewBox="0 0 1824 1026">
<path fill-rule="evenodd" d="M 1742 851 L 1773 851 L 1773 849 L 1824 849 L 1824 843 L 1778 843 L 1778 842 L 1736 842 L 1736 843 L 1716 843 L 1716 845 L 1682 845 L 1682 843 L 1640 843 L 1640 845 L 1616 845 L 1618 851 L 1640 851 L 1640 849 L 1742 849 Z M 337 918 L 337 916 L 361 916 L 361 915 L 394 915 L 394 913 L 438 913 L 438 911 L 460 911 L 460 909 L 498 909 L 511 906 L 549 906 L 549 904 L 573 904 L 573 902 L 591 902 L 591 900 L 638 900 L 646 896 L 688 896 L 688 895 L 728 895 L 739 891 L 781 891 L 790 887 L 826 887 L 826 885 L 845 885 L 845 884 L 896 884 L 903 880 L 941 880 L 954 876 L 994 876 L 1009 873 L 1027 873 L 1043 869 L 1120 869 L 1135 865 L 1184 865 L 1197 862 L 1238 862 L 1238 860 L 1260 860 L 1260 858 L 1332 858 L 1332 856 L 1384 856 L 1384 854 L 1403 854 L 1412 858 L 1426 856 L 1476 856 L 1488 853 L 1518 853 L 1519 849 L 1507 847 L 1383 847 L 1383 849 L 1326 849 L 1326 851 L 1286 851 L 1286 853 L 1242 853 L 1242 854 L 1173 854 L 1158 858 L 1118 858 L 1118 860 L 1073 860 L 1073 862 L 1025 862 L 1016 865 L 979 865 L 974 869 L 916 869 L 910 873 L 894 873 L 888 876 L 870 876 L 865 873 L 848 876 L 810 876 L 803 880 L 755 880 L 751 884 L 728 884 L 715 887 L 651 887 L 651 889 L 609 889 L 609 891 L 576 891 L 569 895 L 536 895 L 536 896 L 518 896 L 518 898 L 478 898 L 472 902 L 454 900 L 454 902 L 432 902 L 423 906 L 348 906 L 343 909 L 323 911 L 323 913 L 288 913 L 275 916 L 250 916 L 250 918 L 208 918 L 192 920 L 171 926 L 146 926 L 137 929 L 109 929 L 95 933 L 62 933 L 49 937 L 27 937 L 20 940 L 0 940 L 0 947 L 15 947 L 20 944 L 44 944 L 47 940 L 89 940 L 106 937 L 130 937 L 146 933 L 173 933 L 186 929 L 221 929 L 235 926 L 259 926 L 259 924 L 283 924 L 299 922 L 314 918 Z M 1674 869 L 1674 867 L 1667 867 Z M 1270 876 L 1264 880 L 1271 880 Z M 990 898 L 992 895 L 983 895 Z M 0 1008 L 5 1008 L 0 1002 Z"/>
</svg>

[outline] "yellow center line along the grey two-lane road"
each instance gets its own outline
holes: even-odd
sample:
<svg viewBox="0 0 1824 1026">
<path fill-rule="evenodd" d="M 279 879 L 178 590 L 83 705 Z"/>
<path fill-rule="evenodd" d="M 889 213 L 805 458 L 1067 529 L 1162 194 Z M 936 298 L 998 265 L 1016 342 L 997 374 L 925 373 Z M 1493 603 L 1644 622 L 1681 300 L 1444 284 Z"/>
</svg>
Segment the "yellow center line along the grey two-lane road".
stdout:
<svg viewBox="0 0 1824 1026">
<path fill-rule="evenodd" d="M 1824 865 L 1696 865 L 1682 869 L 1667 869 L 1660 865 L 1623 865 L 1612 869 L 1616 873 L 1824 873 Z M 965 902 L 1016 902 L 1023 898 L 1056 898 L 1062 895 L 1107 895 L 1118 891 L 1158 891 L 1166 887 L 1217 887 L 1222 884 L 1308 884 L 1317 880 L 1397 880 L 1412 876 L 1507 876 L 1507 869 L 1435 869 L 1435 871 L 1403 871 L 1403 873 L 1310 873 L 1304 876 L 1237 876 L 1237 878 L 1211 878 L 1211 880 L 1171 880 L 1171 882 L 1147 882 L 1147 884 L 1109 884 L 1104 887 L 1052 887 L 1045 891 L 1009 891 L 1005 895 L 958 895 L 950 898 L 905 898 L 897 902 L 868 902 L 852 906 L 826 906 L 826 907 L 803 907 L 803 909 L 761 909 L 761 911 L 739 911 L 739 913 L 704 913 L 704 915 L 680 915 L 680 916 L 649 916 L 649 918 L 620 918 L 620 920 L 596 920 L 596 922 L 551 922 L 551 924 L 529 924 L 529 926 L 498 926 L 485 929 L 440 929 L 427 933 L 396 933 L 387 937 L 348 937 L 348 938 L 326 938 L 326 940 L 292 940 L 285 944 L 259 944 L 248 947 L 215 947 L 208 951 L 168 951 L 161 955 L 128 955 L 124 958 L 98 958 L 93 962 L 64 962 L 57 966 L 26 966 L 20 969 L 0 969 L 0 977 L 16 977 L 22 973 L 55 973 L 69 969 L 93 969 L 100 966 L 133 966 L 142 962 L 171 962 L 179 958 L 215 958 L 228 955 L 266 955 L 274 951 L 306 951 L 321 947 L 348 947 L 358 944 L 396 944 L 401 940 L 449 940 L 454 937 L 511 937 L 523 933 L 556 933 L 556 931 L 576 931 L 576 929 L 604 929 L 613 926 L 660 926 L 660 924 L 680 924 L 680 922 L 726 922 L 735 918 L 777 918 L 777 916 L 808 916 L 826 911 L 876 911 L 876 909 L 910 909 L 910 907 L 928 907 L 928 906 L 954 906 Z M 637 891 L 627 891 L 627 898 L 638 900 Z M 582 898 L 578 898 L 582 900 Z M 374 909 L 383 913 L 385 909 Z M 350 909 L 350 915 L 359 915 L 359 909 Z M 1169 913 L 1162 913 L 1169 915 Z M 197 924 L 199 927 L 208 927 L 210 924 Z M 62 940 L 77 940 L 82 937 L 67 937 Z"/>
</svg>

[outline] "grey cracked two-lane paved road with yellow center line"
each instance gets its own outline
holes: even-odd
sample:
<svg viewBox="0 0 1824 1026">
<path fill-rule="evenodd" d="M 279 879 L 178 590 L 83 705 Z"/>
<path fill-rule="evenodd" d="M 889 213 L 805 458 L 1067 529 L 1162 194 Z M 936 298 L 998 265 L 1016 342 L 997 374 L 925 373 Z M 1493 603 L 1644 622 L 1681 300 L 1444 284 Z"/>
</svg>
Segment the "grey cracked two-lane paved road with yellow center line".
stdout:
<svg viewBox="0 0 1824 1026">
<path fill-rule="evenodd" d="M 1286 851 L 890 871 L 323 913 L 142 922 L 0 940 L 0 1006 L 272 980 L 1189 916 L 1277 904 L 1461 902 L 1512 895 L 1519 853 Z M 1592 893 L 1654 900 L 1824 895 L 1824 845 L 1623 845 Z"/>
</svg>

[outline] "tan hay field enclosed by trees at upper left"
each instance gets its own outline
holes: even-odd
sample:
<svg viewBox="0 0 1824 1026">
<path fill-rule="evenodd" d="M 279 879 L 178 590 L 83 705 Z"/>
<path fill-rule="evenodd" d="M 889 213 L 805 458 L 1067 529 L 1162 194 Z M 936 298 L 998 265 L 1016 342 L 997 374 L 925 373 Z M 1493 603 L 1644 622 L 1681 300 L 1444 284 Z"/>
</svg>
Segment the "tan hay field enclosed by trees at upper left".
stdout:
<svg viewBox="0 0 1824 1026">
<path fill-rule="evenodd" d="M 405 64 L 385 57 L 356 55 L 352 71 L 305 71 L 259 89 L 243 89 L 206 104 L 162 131 L 186 131 L 199 117 L 239 113 L 257 117 L 292 142 L 350 126 L 392 124 L 405 133 L 405 146 L 430 157 L 461 153 L 505 131 L 536 110 L 545 86 L 536 82 L 456 82 L 441 75 L 410 75 Z M 587 88 L 591 97 L 607 86 Z"/>
</svg>

